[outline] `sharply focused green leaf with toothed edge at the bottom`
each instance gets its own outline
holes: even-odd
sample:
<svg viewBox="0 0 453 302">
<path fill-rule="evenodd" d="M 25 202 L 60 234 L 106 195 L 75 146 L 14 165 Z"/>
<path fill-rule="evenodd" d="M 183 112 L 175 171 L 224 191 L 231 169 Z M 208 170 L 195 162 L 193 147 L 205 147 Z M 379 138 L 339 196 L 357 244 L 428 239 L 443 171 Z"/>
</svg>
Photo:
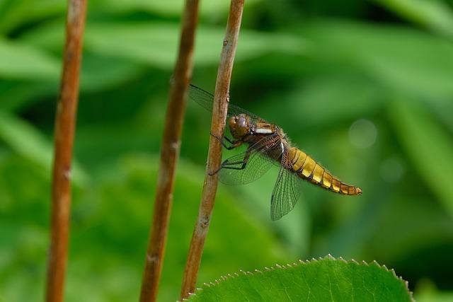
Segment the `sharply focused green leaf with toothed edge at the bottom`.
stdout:
<svg viewBox="0 0 453 302">
<path fill-rule="evenodd" d="M 331 256 L 241 272 L 205 284 L 188 301 L 413 301 L 407 282 L 377 262 Z"/>
</svg>

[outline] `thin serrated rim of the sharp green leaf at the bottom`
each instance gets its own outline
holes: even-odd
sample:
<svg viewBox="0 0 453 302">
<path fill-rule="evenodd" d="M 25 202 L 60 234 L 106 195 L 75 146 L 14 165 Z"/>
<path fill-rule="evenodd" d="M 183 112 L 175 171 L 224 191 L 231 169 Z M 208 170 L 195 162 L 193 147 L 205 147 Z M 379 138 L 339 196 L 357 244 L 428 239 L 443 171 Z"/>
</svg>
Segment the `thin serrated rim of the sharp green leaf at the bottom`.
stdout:
<svg viewBox="0 0 453 302">
<path fill-rule="evenodd" d="M 355 265 L 367 265 L 367 266 L 374 265 L 374 266 L 377 266 L 377 267 L 379 267 L 381 269 L 386 270 L 386 272 L 391 272 L 397 280 L 402 281 L 405 284 L 406 290 L 409 293 L 411 301 L 415 302 L 415 300 L 413 298 L 413 293 L 412 293 L 412 291 L 409 290 L 408 281 L 404 280 L 401 276 L 398 276 L 394 269 L 388 269 L 386 267 L 386 265 L 379 265 L 379 263 L 376 260 L 373 260 L 372 262 L 366 262 L 366 261 L 357 262 L 354 259 L 344 260 L 343 257 L 336 258 L 336 257 L 333 257 L 331 254 L 328 254 L 328 255 L 326 255 L 324 257 L 318 257 L 317 259 L 316 258 L 311 258 L 311 260 L 305 260 L 305 261 L 304 260 L 299 260 L 298 262 L 288 263 L 286 265 L 279 265 L 277 263 L 273 267 L 264 267 L 264 270 L 267 271 L 267 272 L 271 272 L 271 271 L 276 270 L 276 269 L 287 269 L 287 268 L 291 268 L 291 267 L 297 267 L 299 265 L 307 265 L 307 264 L 309 264 L 311 262 L 317 262 L 318 260 L 324 260 L 324 259 L 340 260 L 340 261 L 343 261 L 345 263 L 353 263 Z M 246 272 L 246 271 L 243 271 L 242 269 L 239 269 L 239 272 L 235 272 L 233 274 L 227 274 L 226 276 L 220 276 L 219 279 L 215 279 L 214 281 L 211 281 L 209 283 L 205 282 L 205 283 L 203 283 L 203 286 L 207 286 L 207 287 L 216 286 L 220 282 L 225 281 L 227 279 L 239 277 L 240 274 L 252 275 L 253 276 L 255 274 L 263 274 L 263 272 L 260 271 L 259 269 L 255 269 L 253 272 Z M 202 290 L 203 290 L 202 288 L 197 288 L 197 289 L 195 289 L 195 292 L 189 293 L 189 296 L 194 296 L 194 295 L 197 294 L 197 292 L 200 292 Z M 182 301 L 188 301 L 188 298 L 183 298 Z M 178 302 L 181 302 L 181 301 L 178 301 Z"/>
</svg>

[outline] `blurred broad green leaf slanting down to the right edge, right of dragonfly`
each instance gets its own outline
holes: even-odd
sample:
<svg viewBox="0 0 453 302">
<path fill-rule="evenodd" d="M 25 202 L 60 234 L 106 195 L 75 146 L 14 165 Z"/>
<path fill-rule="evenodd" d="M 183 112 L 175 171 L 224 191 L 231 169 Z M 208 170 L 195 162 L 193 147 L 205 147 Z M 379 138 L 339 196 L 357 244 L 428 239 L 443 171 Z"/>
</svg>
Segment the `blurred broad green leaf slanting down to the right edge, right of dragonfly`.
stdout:
<svg viewBox="0 0 453 302">
<path fill-rule="evenodd" d="M 396 133 L 420 177 L 453 214 L 453 141 L 415 101 L 395 100 L 389 110 Z"/>
</svg>

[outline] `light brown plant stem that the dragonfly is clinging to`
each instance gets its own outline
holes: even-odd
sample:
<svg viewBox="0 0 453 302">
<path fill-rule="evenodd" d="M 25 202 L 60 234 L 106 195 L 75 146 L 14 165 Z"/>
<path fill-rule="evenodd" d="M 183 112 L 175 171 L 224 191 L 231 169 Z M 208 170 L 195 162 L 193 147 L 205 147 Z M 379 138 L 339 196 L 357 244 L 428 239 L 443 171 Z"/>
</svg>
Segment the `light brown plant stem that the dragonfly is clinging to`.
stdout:
<svg viewBox="0 0 453 302">
<path fill-rule="evenodd" d="M 210 175 L 217 171 L 222 161 L 222 144 L 215 137 L 223 137 L 226 112 L 229 102 L 229 84 L 231 81 L 231 71 L 233 69 L 234 54 L 241 28 L 241 18 L 244 0 L 232 0 L 229 10 L 226 34 L 222 47 L 219 71 L 214 92 L 214 104 L 212 108 L 212 124 L 210 137 L 210 148 L 207 155 L 207 167 L 205 183 L 202 190 L 200 209 L 197 222 L 190 242 L 187 262 L 185 264 L 183 285 L 181 289 L 181 299 L 187 298 L 189 293 L 193 293 L 197 283 L 197 273 L 200 267 L 203 247 L 207 231 L 210 226 L 214 199 L 217 192 L 218 174 Z M 215 136 L 215 137 L 214 137 Z"/>
</svg>

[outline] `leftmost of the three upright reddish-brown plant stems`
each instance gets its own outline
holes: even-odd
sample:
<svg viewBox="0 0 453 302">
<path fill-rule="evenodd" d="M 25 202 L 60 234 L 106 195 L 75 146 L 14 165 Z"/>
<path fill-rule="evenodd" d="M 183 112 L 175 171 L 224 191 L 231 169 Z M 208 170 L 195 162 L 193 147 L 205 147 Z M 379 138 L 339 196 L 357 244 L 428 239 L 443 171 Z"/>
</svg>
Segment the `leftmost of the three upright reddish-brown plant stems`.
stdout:
<svg viewBox="0 0 453 302">
<path fill-rule="evenodd" d="M 71 212 L 71 158 L 79 97 L 79 70 L 85 14 L 86 0 L 68 1 L 62 83 L 55 117 L 51 237 L 46 288 L 48 302 L 62 301 L 64 293 Z"/>
</svg>

